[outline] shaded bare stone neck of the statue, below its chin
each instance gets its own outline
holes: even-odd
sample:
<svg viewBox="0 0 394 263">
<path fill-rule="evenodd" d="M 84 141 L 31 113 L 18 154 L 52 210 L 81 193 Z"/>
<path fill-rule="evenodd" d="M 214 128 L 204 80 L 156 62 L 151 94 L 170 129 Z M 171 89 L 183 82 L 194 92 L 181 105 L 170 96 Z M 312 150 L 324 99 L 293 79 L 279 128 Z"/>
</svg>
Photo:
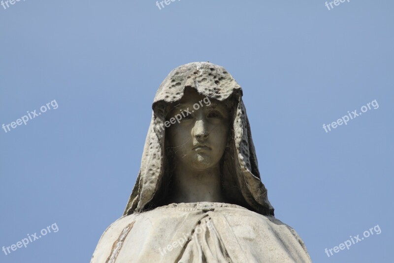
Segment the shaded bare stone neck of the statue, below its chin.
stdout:
<svg viewBox="0 0 394 263">
<path fill-rule="evenodd" d="M 170 202 L 225 202 L 222 194 L 219 164 L 201 171 L 177 165 L 173 171 L 171 181 Z"/>
</svg>

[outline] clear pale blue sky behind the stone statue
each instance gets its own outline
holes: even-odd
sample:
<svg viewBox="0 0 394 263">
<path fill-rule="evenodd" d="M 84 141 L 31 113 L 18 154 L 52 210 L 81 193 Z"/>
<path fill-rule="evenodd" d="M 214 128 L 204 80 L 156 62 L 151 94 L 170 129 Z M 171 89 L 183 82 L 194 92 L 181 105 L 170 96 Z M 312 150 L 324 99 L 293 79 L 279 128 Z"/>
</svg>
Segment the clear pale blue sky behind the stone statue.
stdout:
<svg viewBox="0 0 394 263">
<path fill-rule="evenodd" d="M 157 88 L 175 67 L 224 66 L 244 91 L 275 216 L 317 263 L 393 251 L 394 3 L 26 0 L 0 6 L 1 263 L 86 263 L 122 216 Z M 379 108 L 326 133 L 323 124 Z M 329 257 L 326 248 L 379 225 Z M 263 246 L 263 244 L 262 244 Z"/>
</svg>

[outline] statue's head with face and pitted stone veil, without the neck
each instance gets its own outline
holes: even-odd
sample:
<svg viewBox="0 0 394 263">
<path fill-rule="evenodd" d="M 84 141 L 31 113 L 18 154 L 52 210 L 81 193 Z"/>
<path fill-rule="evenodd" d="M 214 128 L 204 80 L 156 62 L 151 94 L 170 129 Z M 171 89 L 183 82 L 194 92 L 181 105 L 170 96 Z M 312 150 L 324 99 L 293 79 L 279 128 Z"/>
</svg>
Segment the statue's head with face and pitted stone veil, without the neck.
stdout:
<svg viewBox="0 0 394 263">
<path fill-rule="evenodd" d="M 208 62 L 182 65 L 160 85 L 137 182 L 125 215 L 168 204 L 174 163 L 220 167 L 229 203 L 273 216 L 257 164 L 242 89 Z"/>
</svg>

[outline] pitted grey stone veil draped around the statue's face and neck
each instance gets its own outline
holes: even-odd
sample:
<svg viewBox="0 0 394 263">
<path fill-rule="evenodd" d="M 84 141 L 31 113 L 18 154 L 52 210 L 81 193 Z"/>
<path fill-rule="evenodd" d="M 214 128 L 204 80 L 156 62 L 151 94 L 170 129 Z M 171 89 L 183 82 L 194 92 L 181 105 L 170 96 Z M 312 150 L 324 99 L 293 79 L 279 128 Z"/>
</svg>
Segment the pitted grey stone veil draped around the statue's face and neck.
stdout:
<svg viewBox="0 0 394 263">
<path fill-rule="evenodd" d="M 230 203 L 266 216 L 274 215 L 257 163 L 249 120 L 242 102 L 242 89 L 221 66 L 209 62 L 182 65 L 169 73 L 160 85 L 153 105 L 152 120 L 142 154 L 141 168 L 124 215 L 149 210 L 165 203 L 168 157 L 164 122 L 168 106 L 179 101 L 185 88 L 218 101 L 233 100 L 231 139 L 223 156 L 221 181 Z"/>
</svg>

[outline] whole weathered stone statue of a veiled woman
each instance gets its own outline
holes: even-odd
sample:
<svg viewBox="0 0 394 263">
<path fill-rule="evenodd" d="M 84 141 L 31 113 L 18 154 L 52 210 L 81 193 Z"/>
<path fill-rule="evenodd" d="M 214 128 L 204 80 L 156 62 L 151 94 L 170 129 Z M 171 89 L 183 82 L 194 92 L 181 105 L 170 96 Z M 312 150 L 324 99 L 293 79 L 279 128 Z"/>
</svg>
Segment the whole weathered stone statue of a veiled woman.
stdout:
<svg viewBox="0 0 394 263">
<path fill-rule="evenodd" d="M 182 65 L 164 79 L 137 182 L 91 263 L 311 262 L 274 218 L 241 87 L 222 67 Z"/>
</svg>

